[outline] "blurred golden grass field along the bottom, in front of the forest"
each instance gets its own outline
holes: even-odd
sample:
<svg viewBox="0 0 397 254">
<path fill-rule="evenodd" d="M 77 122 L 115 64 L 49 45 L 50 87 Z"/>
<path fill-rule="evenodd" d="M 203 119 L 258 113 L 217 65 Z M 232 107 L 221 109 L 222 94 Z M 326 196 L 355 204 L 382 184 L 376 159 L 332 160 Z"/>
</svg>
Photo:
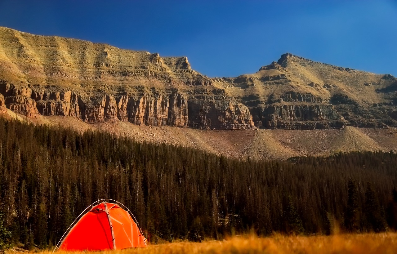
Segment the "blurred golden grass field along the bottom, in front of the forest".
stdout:
<svg viewBox="0 0 397 254">
<path fill-rule="evenodd" d="M 50 254 L 41 252 L 40 254 Z M 70 252 L 69 252 L 70 253 Z M 77 253 L 77 252 L 74 252 Z M 84 252 L 89 253 L 89 252 Z M 224 241 L 174 242 L 119 251 L 92 252 L 101 254 L 170 254 L 170 253 L 397 253 L 397 233 L 341 234 L 331 236 L 283 236 L 266 238 L 231 237 Z"/>
</svg>

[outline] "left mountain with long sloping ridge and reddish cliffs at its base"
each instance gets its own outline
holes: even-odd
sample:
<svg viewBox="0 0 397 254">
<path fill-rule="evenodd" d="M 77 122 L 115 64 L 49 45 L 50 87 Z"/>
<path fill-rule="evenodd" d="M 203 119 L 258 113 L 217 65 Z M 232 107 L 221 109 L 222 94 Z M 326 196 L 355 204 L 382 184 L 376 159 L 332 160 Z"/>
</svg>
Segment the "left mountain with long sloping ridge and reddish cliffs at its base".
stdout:
<svg viewBox="0 0 397 254">
<path fill-rule="evenodd" d="M 254 126 L 247 106 L 192 70 L 186 57 L 6 28 L 0 45 L 0 93 L 18 114 L 200 129 Z"/>
</svg>

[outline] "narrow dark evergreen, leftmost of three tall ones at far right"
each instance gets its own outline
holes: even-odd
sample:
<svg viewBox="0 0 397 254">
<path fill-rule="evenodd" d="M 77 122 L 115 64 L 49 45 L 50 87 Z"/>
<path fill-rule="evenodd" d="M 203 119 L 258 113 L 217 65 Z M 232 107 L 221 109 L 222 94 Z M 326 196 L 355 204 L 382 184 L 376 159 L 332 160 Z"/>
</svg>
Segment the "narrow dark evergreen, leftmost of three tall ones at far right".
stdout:
<svg viewBox="0 0 397 254">
<path fill-rule="evenodd" d="M 353 178 L 349 179 L 347 191 L 347 207 L 345 214 L 346 230 L 357 231 L 358 225 L 358 190 L 356 181 Z"/>
</svg>

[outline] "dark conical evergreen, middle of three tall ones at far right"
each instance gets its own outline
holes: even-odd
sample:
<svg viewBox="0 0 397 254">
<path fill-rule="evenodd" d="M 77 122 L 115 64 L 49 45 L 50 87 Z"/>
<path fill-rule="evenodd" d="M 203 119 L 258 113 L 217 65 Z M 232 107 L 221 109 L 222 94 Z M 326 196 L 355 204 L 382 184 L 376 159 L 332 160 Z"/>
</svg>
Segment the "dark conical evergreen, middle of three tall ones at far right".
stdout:
<svg viewBox="0 0 397 254">
<path fill-rule="evenodd" d="M 384 231 L 385 223 L 379 207 L 378 199 L 376 198 L 374 186 L 371 182 L 367 183 L 365 192 L 365 216 L 367 227 L 375 232 Z"/>
</svg>

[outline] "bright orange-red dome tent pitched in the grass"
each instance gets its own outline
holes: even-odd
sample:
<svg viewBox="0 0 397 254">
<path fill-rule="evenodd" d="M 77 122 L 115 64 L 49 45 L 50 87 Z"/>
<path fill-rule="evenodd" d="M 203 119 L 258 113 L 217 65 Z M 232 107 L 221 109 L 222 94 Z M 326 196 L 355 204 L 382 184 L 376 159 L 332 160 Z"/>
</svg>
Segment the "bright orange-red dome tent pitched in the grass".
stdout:
<svg viewBox="0 0 397 254">
<path fill-rule="evenodd" d="M 123 204 L 102 199 L 91 204 L 75 219 L 55 250 L 121 250 L 132 247 L 146 247 L 146 238 L 137 220 Z"/>
</svg>

